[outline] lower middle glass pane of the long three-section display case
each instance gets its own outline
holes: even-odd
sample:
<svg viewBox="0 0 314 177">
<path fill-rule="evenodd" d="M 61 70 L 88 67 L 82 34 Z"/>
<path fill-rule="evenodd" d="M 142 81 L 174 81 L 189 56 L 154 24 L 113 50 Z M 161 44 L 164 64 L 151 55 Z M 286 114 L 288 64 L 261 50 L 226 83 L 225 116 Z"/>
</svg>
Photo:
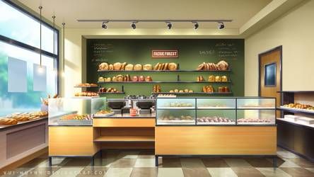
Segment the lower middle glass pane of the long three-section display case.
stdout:
<svg viewBox="0 0 314 177">
<path fill-rule="evenodd" d="M 197 125 L 236 125 L 236 110 L 197 110 Z"/>
</svg>

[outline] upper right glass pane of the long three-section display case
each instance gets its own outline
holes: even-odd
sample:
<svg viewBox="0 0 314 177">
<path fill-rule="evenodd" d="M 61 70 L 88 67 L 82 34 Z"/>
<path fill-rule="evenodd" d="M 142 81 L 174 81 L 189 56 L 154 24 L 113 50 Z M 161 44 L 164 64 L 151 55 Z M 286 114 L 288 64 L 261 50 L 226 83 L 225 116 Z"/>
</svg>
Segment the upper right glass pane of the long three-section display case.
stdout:
<svg viewBox="0 0 314 177">
<path fill-rule="evenodd" d="M 276 100 L 275 98 L 238 98 L 237 105 L 239 109 L 274 109 Z"/>
</svg>

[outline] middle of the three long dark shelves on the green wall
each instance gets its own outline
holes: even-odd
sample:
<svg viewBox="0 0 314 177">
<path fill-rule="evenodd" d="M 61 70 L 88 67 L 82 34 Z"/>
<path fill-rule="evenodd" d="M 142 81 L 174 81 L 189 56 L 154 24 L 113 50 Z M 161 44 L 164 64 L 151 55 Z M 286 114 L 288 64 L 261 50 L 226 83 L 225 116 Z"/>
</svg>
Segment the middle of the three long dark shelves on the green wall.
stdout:
<svg viewBox="0 0 314 177">
<path fill-rule="evenodd" d="M 98 81 L 98 84 L 231 84 L 231 81 Z"/>
</svg>

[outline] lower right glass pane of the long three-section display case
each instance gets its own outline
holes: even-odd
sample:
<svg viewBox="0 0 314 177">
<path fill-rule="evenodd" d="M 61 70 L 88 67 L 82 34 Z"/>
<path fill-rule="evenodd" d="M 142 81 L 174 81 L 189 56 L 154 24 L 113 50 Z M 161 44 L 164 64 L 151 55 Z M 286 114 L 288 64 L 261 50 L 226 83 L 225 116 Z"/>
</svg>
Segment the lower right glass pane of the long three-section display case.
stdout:
<svg viewBox="0 0 314 177">
<path fill-rule="evenodd" d="M 238 110 L 238 125 L 274 125 L 275 110 Z"/>
</svg>

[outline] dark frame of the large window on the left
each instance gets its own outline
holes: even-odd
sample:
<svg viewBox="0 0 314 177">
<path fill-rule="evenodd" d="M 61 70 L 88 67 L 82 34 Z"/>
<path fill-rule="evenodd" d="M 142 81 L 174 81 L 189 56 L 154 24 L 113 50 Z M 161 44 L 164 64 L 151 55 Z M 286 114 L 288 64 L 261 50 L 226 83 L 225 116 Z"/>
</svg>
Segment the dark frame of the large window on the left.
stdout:
<svg viewBox="0 0 314 177">
<path fill-rule="evenodd" d="M 4 1 L 4 3 L 8 4 L 8 6 L 11 6 L 13 8 L 16 8 L 16 10 L 21 11 L 21 13 L 25 14 L 25 16 L 28 16 L 30 18 L 33 18 L 35 21 L 37 21 L 38 23 L 40 23 L 40 18 L 38 18 L 37 16 L 35 16 L 33 13 L 30 13 L 29 11 L 25 10 L 24 8 L 22 8 L 21 6 L 18 6 L 17 4 L 13 3 L 10 0 L 0 0 L 0 1 Z M 0 41 L 1 42 L 6 42 L 9 45 L 15 45 L 16 47 L 21 47 L 25 50 L 30 50 L 32 52 L 36 52 L 38 54 L 42 54 L 42 55 L 46 55 L 47 57 L 52 57 L 55 59 L 55 62 L 57 64 L 56 68 L 57 69 L 57 93 L 60 94 L 60 89 L 59 89 L 59 84 L 60 84 L 60 77 L 59 77 L 59 30 L 57 28 L 54 28 L 52 25 L 50 25 L 49 23 L 46 23 L 45 21 L 41 21 L 42 25 L 45 25 L 47 28 L 50 28 L 51 30 L 54 30 L 54 33 L 57 33 L 57 41 L 54 41 L 57 43 L 57 48 L 54 48 L 54 50 L 57 49 L 57 54 L 54 54 L 53 52 L 48 52 L 46 50 L 40 50 L 40 48 L 34 47 L 32 45 L 28 45 L 25 44 L 24 42 L 20 42 L 18 40 L 14 40 L 12 38 L 8 38 L 4 35 L 0 35 Z"/>
</svg>

